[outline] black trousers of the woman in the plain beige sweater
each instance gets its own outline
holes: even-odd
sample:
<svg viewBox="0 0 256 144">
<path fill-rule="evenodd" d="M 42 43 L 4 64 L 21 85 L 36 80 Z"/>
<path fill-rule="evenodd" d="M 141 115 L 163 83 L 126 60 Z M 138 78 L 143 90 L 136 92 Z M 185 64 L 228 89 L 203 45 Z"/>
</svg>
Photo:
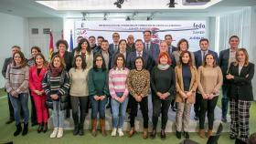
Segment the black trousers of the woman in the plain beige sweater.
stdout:
<svg viewBox="0 0 256 144">
<path fill-rule="evenodd" d="M 208 129 L 213 129 L 214 109 L 219 97 L 204 99 L 201 94 L 198 94 L 198 96 L 200 97 L 199 127 L 205 129 L 206 113 L 208 112 Z"/>
</svg>

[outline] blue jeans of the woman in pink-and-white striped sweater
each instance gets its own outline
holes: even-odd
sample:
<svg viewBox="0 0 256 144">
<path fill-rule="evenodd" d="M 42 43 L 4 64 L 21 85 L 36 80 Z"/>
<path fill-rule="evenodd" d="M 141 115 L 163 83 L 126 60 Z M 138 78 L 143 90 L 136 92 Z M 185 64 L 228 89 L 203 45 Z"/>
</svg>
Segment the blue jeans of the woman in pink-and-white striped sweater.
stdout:
<svg viewBox="0 0 256 144">
<path fill-rule="evenodd" d="M 123 93 L 116 93 L 118 97 L 122 97 Z M 125 112 L 128 104 L 128 97 L 126 97 L 123 103 L 118 102 L 112 98 L 112 128 L 123 128 L 123 122 L 125 119 Z M 119 118 L 119 119 L 118 119 Z M 119 121 L 118 121 L 119 120 Z"/>
</svg>

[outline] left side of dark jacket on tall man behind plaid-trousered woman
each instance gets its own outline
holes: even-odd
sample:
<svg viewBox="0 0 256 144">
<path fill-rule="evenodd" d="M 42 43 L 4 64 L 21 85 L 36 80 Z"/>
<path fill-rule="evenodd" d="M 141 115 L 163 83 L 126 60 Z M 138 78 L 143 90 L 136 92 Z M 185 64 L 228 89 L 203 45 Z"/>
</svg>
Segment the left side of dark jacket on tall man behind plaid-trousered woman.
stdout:
<svg viewBox="0 0 256 144">
<path fill-rule="evenodd" d="M 219 67 L 223 75 L 223 84 L 227 83 L 226 75 L 229 67 L 229 48 L 219 52 Z"/>
</svg>

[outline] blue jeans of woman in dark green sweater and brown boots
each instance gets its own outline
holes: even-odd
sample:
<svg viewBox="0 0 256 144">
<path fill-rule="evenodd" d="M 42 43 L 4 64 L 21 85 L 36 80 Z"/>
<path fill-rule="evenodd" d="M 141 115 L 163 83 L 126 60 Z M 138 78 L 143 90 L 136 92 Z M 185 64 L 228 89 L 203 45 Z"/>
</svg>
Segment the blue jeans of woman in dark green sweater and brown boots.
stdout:
<svg viewBox="0 0 256 144">
<path fill-rule="evenodd" d="M 100 118 L 105 118 L 105 105 L 107 103 L 107 97 L 103 100 L 95 100 L 93 96 L 90 96 L 91 100 L 91 119 L 97 118 L 98 112 L 100 113 Z"/>
</svg>

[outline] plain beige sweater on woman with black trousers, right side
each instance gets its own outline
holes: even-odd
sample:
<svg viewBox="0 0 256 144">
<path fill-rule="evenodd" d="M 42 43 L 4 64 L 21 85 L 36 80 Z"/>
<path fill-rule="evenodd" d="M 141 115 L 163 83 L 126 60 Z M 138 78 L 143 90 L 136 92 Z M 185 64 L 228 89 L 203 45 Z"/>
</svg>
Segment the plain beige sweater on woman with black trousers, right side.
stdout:
<svg viewBox="0 0 256 144">
<path fill-rule="evenodd" d="M 220 67 L 198 67 L 198 93 L 219 96 L 223 77 Z"/>
</svg>

